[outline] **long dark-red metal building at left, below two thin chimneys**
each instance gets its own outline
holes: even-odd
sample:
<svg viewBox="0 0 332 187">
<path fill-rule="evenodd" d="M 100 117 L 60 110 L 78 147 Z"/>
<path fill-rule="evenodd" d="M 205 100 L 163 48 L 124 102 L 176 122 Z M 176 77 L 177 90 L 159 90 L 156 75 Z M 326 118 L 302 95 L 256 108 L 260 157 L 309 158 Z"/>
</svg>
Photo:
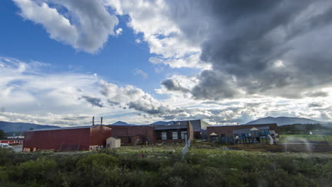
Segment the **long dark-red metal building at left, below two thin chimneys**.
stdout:
<svg viewBox="0 0 332 187">
<path fill-rule="evenodd" d="M 23 148 L 47 150 L 89 150 L 106 145 L 111 128 L 106 125 L 27 131 Z"/>
</svg>

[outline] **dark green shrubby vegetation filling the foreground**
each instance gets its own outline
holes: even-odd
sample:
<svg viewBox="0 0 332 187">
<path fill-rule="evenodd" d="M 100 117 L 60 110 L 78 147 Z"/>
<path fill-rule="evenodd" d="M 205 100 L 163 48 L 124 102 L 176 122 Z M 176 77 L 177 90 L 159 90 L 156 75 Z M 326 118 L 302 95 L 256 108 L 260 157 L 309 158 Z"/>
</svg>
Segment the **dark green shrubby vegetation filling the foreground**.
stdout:
<svg viewBox="0 0 332 187">
<path fill-rule="evenodd" d="M 331 186 L 332 183 L 331 157 L 209 149 L 209 145 L 202 148 L 203 145 L 194 142 L 185 159 L 180 154 L 143 158 L 138 153 L 165 153 L 170 145 L 70 154 L 24 154 L 0 149 L 0 186 Z"/>
</svg>

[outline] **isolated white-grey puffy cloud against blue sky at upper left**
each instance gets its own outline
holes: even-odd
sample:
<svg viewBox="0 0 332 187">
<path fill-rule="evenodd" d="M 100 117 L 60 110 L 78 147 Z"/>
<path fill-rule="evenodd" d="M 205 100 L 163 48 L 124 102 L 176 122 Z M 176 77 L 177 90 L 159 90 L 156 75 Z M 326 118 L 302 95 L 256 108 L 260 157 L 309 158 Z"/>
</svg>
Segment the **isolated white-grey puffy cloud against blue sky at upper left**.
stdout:
<svg viewBox="0 0 332 187">
<path fill-rule="evenodd" d="M 21 9 L 20 15 L 41 24 L 50 38 L 90 53 L 104 46 L 118 24 L 118 18 L 99 0 L 13 1 Z M 64 10 L 66 14 L 61 13 Z"/>
</svg>

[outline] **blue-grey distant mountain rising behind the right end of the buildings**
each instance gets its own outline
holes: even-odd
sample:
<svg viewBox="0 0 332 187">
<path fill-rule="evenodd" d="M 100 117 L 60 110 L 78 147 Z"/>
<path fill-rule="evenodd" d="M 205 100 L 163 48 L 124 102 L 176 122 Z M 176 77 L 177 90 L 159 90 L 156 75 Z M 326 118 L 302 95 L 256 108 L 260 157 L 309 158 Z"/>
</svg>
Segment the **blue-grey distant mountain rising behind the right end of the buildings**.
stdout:
<svg viewBox="0 0 332 187">
<path fill-rule="evenodd" d="M 310 120 L 307 118 L 292 118 L 292 117 L 266 117 L 266 118 L 259 118 L 258 120 L 253 120 L 245 125 L 253 125 L 253 124 L 267 124 L 267 123 L 277 123 L 277 125 L 292 125 L 292 124 L 315 124 L 315 123 L 322 123 L 317 120 Z"/>
</svg>

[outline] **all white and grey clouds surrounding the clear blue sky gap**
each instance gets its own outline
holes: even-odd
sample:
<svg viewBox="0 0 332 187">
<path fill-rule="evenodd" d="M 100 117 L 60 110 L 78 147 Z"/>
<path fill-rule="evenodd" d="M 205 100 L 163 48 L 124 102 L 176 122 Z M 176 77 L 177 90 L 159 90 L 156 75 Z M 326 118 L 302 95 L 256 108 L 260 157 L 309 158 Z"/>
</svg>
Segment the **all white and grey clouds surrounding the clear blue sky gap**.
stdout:
<svg viewBox="0 0 332 187">
<path fill-rule="evenodd" d="M 331 120 L 330 1 L 13 1 L 50 38 L 86 52 L 121 35 L 121 28 L 114 32 L 114 15 L 128 16 L 136 43 L 146 42 L 153 54 L 152 65 L 200 72 L 167 75 L 156 92 L 169 98 L 158 100 L 132 85 L 90 74 L 43 74 L 38 69 L 47 64 L 1 58 L 1 118 L 23 113 L 41 119 L 48 111 L 57 116 L 52 122 L 62 123 L 69 123 L 60 120 L 65 113 L 128 123 L 245 123 L 267 115 Z M 134 74 L 148 77 L 141 69 Z"/>
</svg>

